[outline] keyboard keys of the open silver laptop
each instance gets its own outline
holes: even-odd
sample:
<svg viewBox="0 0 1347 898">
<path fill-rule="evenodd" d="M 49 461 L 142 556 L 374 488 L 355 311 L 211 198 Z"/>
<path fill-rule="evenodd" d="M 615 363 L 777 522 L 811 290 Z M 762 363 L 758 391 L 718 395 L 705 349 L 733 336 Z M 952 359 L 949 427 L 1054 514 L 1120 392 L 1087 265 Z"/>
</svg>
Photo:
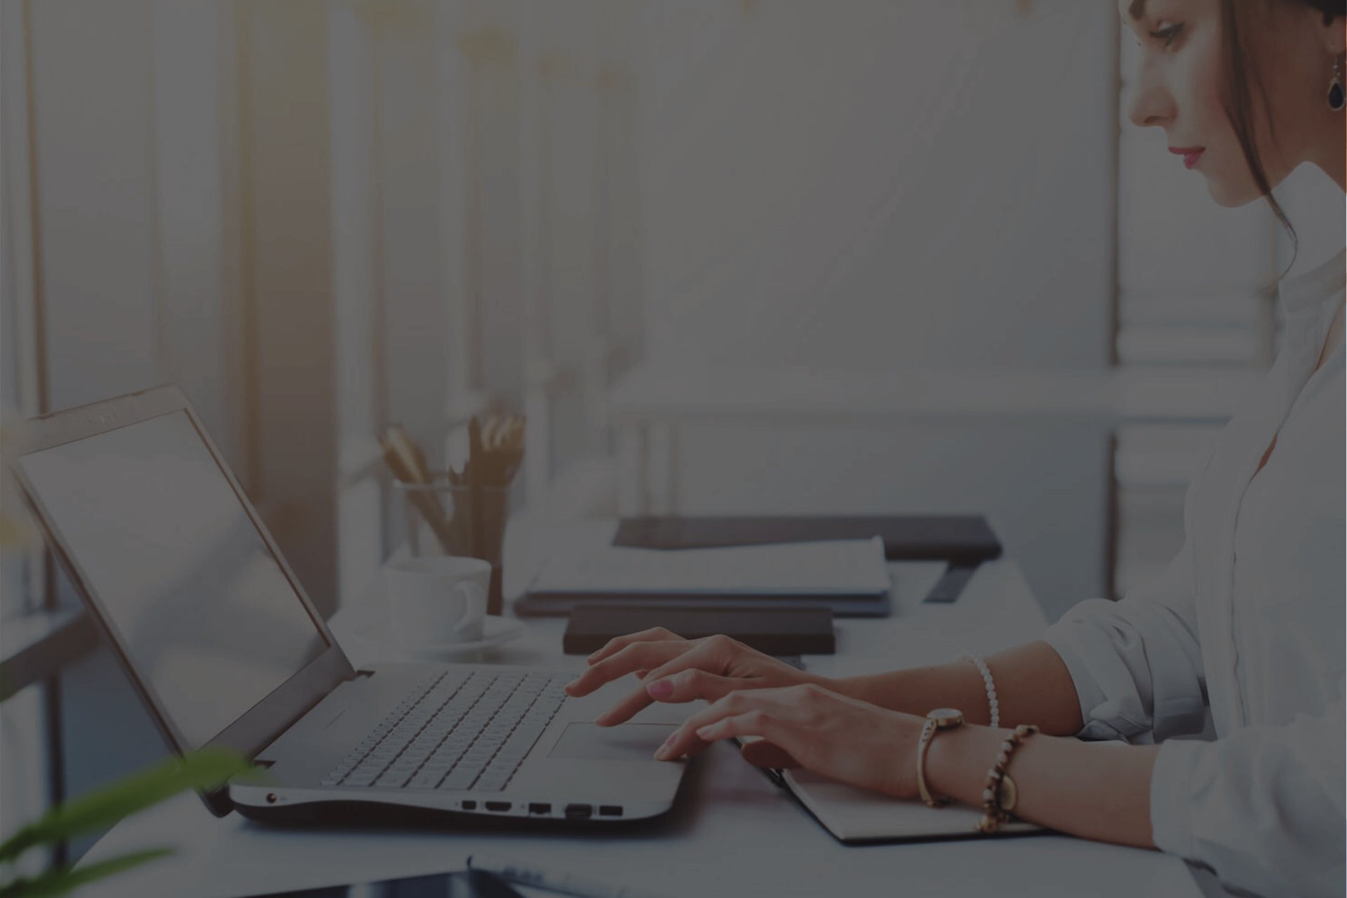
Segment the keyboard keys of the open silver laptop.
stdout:
<svg viewBox="0 0 1347 898">
<path fill-rule="evenodd" d="M 566 700 L 564 676 L 454 670 L 412 689 L 325 786 L 500 792 Z"/>
</svg>

